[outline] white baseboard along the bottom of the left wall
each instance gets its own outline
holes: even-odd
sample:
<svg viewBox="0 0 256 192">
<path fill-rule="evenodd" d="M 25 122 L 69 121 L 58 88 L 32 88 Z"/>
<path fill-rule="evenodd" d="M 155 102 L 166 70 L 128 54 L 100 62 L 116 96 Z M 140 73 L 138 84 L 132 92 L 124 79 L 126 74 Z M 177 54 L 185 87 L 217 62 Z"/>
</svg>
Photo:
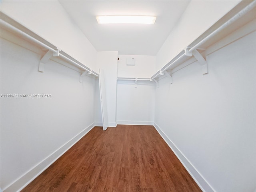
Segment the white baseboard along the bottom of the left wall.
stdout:
<svg viewBox="0 0 256 192">
<path fill-rule="evenodd" d="M 62 156 L 67 150 L 69 150 L 76 142 L 78 142 L 84 135 L 86 135 L 92 128 L 94 128 L 94 123 L 90 124 L 87 128 L 82 130 L 71 140 L 66 142 L 55 152 L 50 154 L 47 158 L 42 160 L 39 164 L 34 166 L 31 170 L 26 172 L 23 176 L 18 178 L 8 187 L 4 188 L 3 191 L 20 191 L 26 187 L 32 180 L 34 180 L 38 175 L 40 175 L 46 168 L 48 168 L 52 163 L 54 163 L 60 156 Z"/>
</svg>

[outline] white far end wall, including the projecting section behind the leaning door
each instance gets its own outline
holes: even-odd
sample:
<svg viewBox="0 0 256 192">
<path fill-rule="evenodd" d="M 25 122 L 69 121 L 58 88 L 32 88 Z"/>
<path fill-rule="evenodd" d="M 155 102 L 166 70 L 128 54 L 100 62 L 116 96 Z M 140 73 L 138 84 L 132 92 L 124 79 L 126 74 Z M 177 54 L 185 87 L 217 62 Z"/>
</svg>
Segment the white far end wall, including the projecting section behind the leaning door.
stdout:
<svg viewBox="0 0 256 192">
<path fill-rule="evenodd" d="M 134 88 L 134 82 L 118 81 L 116 89 L 116 77 L 149 78 L 154 73 L 156 57 L 142 55 L 118 55 L 118 57 L 120 60 L 117 62 L 116 52 L 98 52 L 97 55 L 98 68 L 103 68 L 105 72 L 108 116 L 112 116 L 112 120 L 109 117 L 111 126 L 114 126 L 116 121 L 117 124 L 153 124 L 154 83 L 139 82 L 138 88 Z M 135 66 L 126 65 L 126 58 L 131 57 L 136 60 Z M 98 85 L 95 91 L 95 122 L 101 125 Z M 114 119 L 115 115 L 116 119 Z"/>
</svg>

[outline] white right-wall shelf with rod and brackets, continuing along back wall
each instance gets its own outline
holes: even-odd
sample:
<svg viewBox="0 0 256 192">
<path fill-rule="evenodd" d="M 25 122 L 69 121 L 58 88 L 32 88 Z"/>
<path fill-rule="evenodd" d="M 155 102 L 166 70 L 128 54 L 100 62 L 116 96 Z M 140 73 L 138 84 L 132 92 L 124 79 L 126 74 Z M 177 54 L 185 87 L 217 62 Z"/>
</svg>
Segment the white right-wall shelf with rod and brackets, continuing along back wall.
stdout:
<svg viewBox="0 0 256 192">
<path fill-rule="evenodd" d="M 233 8 L 230 12 L 218 20 L 212 27 L 206 30 L 206 32 L 200 35 L 184 50 L 177 54 L 172 60 L 170 60 L 170 62 L 158 70 L 154 75 L 152 75 L 150 78 L 144 79 L 149 79 L 150 81 L 154 81 L 158 84 L 159 79 L 169 76 L 171 80 L 170 83 L 172 84 L 172 73 L 174 68 L 190 59 L 192 62 L 198 61 L 202 66 L 202 74 L 207 74 L 208 66 L 205 58 L 207 52 L 206 49 L 226 37 L 228 34 L 238 30 L 240 27 L 252 21 L 255 17 L 255 6 L 256 1 L 240 2 L 238 6 Z M 207 52 L 207 54 L 209 53 Z M 118 80 L 121 79 L 139 80 L 143 78 L 118 78 Z"/>
</svg>

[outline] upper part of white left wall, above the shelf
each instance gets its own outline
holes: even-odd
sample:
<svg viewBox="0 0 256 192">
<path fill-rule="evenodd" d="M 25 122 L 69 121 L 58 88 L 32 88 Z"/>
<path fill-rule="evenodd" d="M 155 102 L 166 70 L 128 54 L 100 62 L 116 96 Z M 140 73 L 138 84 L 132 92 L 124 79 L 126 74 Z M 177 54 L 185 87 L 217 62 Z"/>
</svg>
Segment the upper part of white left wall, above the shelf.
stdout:
<svg viewBox="0 0 256 192">
<path fill-rule="evenodd" d="M 56 1 L 1 1 L 1 12 L 96 70 L 96 50 Z"/>
</svg>

